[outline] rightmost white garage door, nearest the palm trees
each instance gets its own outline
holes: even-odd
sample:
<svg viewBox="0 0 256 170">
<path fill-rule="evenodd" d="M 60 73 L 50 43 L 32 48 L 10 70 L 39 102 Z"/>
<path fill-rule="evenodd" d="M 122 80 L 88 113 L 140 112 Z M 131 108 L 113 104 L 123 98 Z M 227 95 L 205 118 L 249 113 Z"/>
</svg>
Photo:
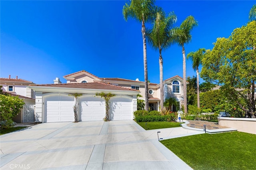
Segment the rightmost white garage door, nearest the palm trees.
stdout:
<svg viewBox="0 0 256 170">
<path fill-rule="evenodd" d="M 132 99 L 113 97 L 110 102 L 111 120 L 132 120 Z"/>
</svg>

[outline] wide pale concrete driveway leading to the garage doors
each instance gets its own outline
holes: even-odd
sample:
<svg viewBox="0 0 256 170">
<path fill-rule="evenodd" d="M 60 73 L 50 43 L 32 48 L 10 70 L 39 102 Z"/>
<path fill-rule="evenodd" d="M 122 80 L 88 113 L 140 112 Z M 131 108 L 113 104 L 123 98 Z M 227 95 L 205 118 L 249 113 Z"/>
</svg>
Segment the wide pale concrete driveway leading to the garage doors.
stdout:
<svg viewBox="0 0 256 170">
<path fill-rule="evenodd" d="M 159 137 L 203 132 L 182 127 L 145 131 L 134 121 L 42 123 L 1 135 L 1 170 L 188 170 Z M 186 153 L 184 153 L 186 154 Z"/>
</svg>

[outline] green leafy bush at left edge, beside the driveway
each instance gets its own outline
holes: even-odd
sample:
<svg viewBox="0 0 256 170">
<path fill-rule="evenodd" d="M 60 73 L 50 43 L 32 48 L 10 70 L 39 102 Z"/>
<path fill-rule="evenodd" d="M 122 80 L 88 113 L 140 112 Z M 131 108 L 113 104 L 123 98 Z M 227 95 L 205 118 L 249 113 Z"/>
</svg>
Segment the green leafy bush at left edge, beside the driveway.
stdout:
<svg viewBox="0 0 256 170">
<path fill-rule="evenodd" d="M 0 94 L 0 123 L 2 129 L 13 125 L 12 118 L 20 113 L 24 104 L 18 96 Z"/>
</svg>

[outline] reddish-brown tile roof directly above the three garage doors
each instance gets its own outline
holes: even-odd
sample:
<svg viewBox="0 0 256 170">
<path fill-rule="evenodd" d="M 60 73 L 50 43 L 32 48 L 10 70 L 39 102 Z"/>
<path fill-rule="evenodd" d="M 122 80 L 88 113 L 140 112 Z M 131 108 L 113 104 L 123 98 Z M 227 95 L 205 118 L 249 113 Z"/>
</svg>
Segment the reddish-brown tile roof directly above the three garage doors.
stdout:
<svg viewBox="0 0 256 170">
<path fill-rule="evenodd" d="M 34 84 L 30 86 L 59 87 L 59 88 L 85 88 L 85 89 L 101 89 L 101 90 L 125 90 L 125 91 L 139 92 L 139 90 L 124 88 L 124 87 L 115 86 L 112 84 L 106 84 L 102 82 L 66 83 L 66 84 Z"/>
</svg>

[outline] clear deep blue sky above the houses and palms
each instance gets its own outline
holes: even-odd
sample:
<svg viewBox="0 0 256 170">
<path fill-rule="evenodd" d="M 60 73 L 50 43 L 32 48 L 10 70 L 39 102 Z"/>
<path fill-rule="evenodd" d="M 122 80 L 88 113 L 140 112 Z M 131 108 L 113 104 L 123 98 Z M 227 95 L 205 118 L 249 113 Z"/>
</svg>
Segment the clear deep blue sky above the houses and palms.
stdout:
<svg viewBox="0 0 256 170">
<path fill-rule="evenodd" d="M 18 76 L 36 84 L 63 83 L 66 74 L 86 70 L 98 77 L 144 81 L 141 23 L 128 18 L 126 1 L 1 1 L 0 77 Z M 212 49 L 216 38 L 229 37 L 248 22 L 255 1 L 156 1 L 174 11 L 179 26 L 194 16 L 198 26 L 186 54 Z M 150 24 L 148 24 L 150 25 Z M 182 48 L 162 53 L 164 79 L 182 76 Z M 159 83 L 158 51 L 147 45 L 148 80 Z M 187 61 L 187 76 L 196 76 Z M 203 82 L 200 79 L 200 82 Z"/>
</svg>

